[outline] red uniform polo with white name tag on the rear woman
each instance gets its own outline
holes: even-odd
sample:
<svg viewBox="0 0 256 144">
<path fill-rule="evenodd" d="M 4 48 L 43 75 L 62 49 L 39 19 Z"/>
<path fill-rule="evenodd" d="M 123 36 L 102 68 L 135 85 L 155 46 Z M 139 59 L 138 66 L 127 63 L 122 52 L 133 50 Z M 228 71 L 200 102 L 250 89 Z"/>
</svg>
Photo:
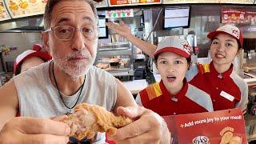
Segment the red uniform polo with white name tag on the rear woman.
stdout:
<svg viewBox="0 0 256 144">
<path fill-rule="evenodd" d="M 198 74 L 189 83 L 210 94 L 214 110 L 226 110 L 234 107 L 246 110 L 248 86 L 234 72 L 233 65 L 222 74 L 215 70 L 213 62 L 198 65 L 198 70 Z"/>
</svg>

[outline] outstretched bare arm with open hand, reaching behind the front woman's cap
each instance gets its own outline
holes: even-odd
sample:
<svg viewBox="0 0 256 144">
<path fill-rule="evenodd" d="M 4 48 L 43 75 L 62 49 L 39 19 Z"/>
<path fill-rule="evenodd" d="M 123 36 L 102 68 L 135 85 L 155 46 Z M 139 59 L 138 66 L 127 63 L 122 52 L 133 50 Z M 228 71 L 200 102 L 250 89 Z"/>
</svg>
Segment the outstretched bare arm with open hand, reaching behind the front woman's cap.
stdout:
<svg viewBox="0 0 256 144">
<path fill-rule="evenodd" d="M 128 39 L 134 46 L 137 46 L 145 54 L 148 54 L 150 57 L 154 57 L 154 51 L 157 49 L 157 46 L 154 46 L 150 42 L 145 42 L 140 38 L 135 37 L 130 33 L 129 26 L 127 26 L 124 22 L 121 21 L 119 25 L 106 22 L 106 26 Z"/>
</svg>

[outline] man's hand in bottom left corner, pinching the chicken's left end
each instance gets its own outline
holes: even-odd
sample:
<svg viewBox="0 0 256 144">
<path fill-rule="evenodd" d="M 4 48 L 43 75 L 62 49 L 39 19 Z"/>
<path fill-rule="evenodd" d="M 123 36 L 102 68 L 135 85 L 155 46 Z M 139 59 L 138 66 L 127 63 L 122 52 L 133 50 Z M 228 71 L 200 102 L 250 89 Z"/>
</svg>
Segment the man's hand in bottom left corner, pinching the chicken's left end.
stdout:
<svg viewBox="0 0 256 144">
<path fill-rule="evenodd" d="M 67 143 L 70 127 L 47 118 L 11 118 L 0 131 L 0 143 Z"/>
</svg>

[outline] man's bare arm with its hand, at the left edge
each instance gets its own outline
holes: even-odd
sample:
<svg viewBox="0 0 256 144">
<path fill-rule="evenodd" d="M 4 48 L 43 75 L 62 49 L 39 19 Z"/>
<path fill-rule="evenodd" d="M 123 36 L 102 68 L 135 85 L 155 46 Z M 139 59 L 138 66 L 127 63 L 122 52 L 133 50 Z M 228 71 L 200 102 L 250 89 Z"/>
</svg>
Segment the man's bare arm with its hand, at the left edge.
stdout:
<svg viewBox="0 0 256 144">
<path fill-rule="evenodd" d="M 70 127 L 48 118 L 15 117 L 18 93 L 10 80 L 0 89 L 0 144 L 9 143 L 67 143 Z"/>
</svg>

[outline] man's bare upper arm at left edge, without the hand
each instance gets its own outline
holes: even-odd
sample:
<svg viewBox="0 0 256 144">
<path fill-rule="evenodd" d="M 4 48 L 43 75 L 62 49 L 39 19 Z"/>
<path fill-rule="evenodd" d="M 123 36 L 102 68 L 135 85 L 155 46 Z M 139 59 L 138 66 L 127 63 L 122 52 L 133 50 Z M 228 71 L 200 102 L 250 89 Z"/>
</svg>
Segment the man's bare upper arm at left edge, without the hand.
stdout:
<svg viewBox="0 0 256 144">
<path fill-rule="evenodd" d="M 0 130 L 4 124 L 14 118 L 18 112 L 18 94 L 14 81 L 10 80 L 0 89 Z"/>
</svg>

